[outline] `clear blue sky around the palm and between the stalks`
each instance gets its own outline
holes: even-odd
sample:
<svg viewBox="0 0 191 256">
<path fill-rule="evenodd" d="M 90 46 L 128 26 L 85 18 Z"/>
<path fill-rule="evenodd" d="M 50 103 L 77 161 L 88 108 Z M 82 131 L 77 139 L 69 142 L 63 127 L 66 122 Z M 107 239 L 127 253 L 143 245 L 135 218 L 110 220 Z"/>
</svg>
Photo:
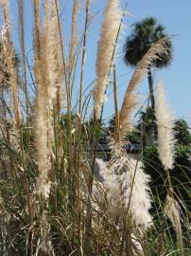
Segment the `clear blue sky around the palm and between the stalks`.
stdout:
<svg viewBox="0 0 191 256">
<path fill-rule="evenodd" d="M 14 41 L 18 40 L 17 32 L 17 7 L 16 0 L 10 0 L 10 9 L 14 27 Z M 26 50 L 32 48 L 32 7 L 31 0 L 26 0 Z M 64 30 L 64 40 L 67 49 L 69 42 L 69 24 L 71 16 L 72 0 L 61 0 L 61 21 Z M 79 0 L 78 34 L 83 30 L 84 24 L 84 2 Z M 129 0 L 130 15 L 127 15 L 124 23 L 126 28 L 120 38 L 117 54 L 117 84 L 118 101 L 121 105 L 124 93 L 127 89 L 132 69 L 123 63 L 123 44 L 125 38 L 130 35 L 130 25 L 142 20 L 147 16 L 154 16 L 166 27 L 169 35 L 173 35 L 174 60 L 171 66 L 162 70 L 154 71 L 154 82 L 163 79 L 165 83 L 166 96 L 176 118 L 184 118 L 191 124 L 191 0 Z M 102 19 L 102 11 L 106 0 L 92 0 L 91 13 L 94 16 L 89 27 L 87 56 L 84 69 L 84 85 L 87 86 L 95 77 L 95 61 L 98 34 Z M 124 7 L 126 0 L 120 1 Z M 17 45 L 18 46 L 18 45 Z M 78 95 L 78 79 L 75 84 L 76 95 Z M 141 102 L 148 97 L 147 78 L 137 87 Z M 112 88 L 108 90 L 108 102 L 105 105 L 104 117 L 113 115 Z"/>
</svg>

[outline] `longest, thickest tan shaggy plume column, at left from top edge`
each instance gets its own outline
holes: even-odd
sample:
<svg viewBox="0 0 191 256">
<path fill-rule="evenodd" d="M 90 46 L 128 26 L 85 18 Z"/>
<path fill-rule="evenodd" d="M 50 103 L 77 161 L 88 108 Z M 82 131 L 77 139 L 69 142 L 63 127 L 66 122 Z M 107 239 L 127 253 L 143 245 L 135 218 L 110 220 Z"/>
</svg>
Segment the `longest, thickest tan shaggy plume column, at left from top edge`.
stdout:
<svg viewBox="0 0 191 256">
<path fill-rule="evenodd" d="M 57 91 L 61 87 L 61 45 L 59 40 L 58 20 L 55 3 L 44 2 L 43 30 L 40 33 L 40 44 L 43 51 L 35 62 L 35 75 L 38 85 L 36 144 L 40 175 L 37 180 L 38 192 L 47 199 L 51 182 L 49 171 L 52 155 L 52 107 Z"/>
</svg>

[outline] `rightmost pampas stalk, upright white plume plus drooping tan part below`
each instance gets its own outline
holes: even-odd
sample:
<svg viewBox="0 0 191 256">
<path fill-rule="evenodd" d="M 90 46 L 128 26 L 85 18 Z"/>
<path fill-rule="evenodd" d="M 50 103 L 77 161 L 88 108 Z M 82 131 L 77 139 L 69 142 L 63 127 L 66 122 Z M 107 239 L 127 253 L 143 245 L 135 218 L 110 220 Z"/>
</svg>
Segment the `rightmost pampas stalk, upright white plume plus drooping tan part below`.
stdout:
<svg viewBox="0 0 191 256">
<path fill-rule="evenodd" d="M 175 157 L 175 135 L 173 130 L 173 116 L 165 99 L 165 89 L 162 82 L 159 82 L 156 90 L 156 119 L 158 124 L 158 151 L 160 159 L 165 167 L 168 182 L 168 193 L 165 199 L 165 213 L 171 220 L 177 233 L 178 243 L 183 253 L 182 227 L 180 207 L 175 199 L 171 182 L 170 170 L 173 168 Z"/>
</svg>

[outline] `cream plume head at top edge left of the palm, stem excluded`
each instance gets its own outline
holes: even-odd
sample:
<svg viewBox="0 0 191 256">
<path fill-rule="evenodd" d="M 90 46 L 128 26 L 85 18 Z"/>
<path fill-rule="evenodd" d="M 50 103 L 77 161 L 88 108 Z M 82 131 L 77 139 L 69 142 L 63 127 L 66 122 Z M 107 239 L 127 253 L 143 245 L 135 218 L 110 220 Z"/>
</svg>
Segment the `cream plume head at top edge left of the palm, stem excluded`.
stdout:
<svg viewBox="0 0 191 256">
<path fill-rule="evenodd" d="M 107 83 L 109 82 L 113 51 L 121 21 L 122 12 L 118 8 L 118 3 L 118 0 L 108 1 L 98 42 L 96 56 L 96 85 L 94 90 L 96 119 L 99 119 L 101 105 L 105 100 L 105 90 Z"/>
</svg>

